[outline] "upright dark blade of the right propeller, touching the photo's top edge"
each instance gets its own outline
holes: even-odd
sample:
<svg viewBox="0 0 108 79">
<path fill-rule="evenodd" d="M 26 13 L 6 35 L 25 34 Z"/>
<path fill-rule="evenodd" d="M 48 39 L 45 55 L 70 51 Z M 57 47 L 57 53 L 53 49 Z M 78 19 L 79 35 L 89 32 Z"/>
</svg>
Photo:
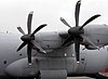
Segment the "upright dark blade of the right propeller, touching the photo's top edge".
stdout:
<svg viewBox="0 0 108 79">
<path fill-rule="evenodd" d="M 81 5 L 81 1 L 79 0 L 76 4 L 76 11 L 75 11 L 76 27 L 79 26 L 80 5 Z"/>
</svg>

